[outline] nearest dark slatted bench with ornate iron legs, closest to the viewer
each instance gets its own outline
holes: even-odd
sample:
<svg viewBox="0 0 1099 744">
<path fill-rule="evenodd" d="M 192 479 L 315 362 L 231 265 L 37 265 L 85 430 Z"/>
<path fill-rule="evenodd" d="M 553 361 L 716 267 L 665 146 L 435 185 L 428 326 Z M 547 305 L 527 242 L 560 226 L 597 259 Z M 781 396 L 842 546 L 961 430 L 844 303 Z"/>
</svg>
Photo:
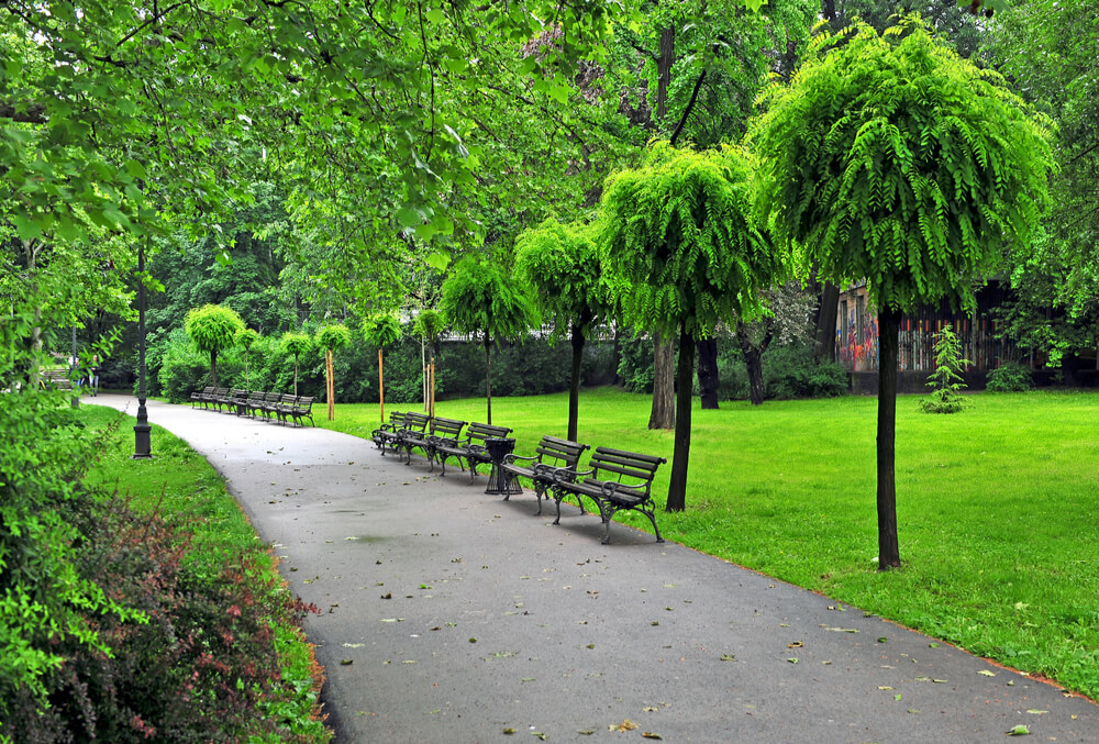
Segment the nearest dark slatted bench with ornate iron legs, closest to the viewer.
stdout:
<svg viewBox="0 0 1099 744">
<path fill-rule="evenodd" d="M 651 489 L 656 468 L 666 462 L 663 457 L 596 447 L 588 462 L 590 470 L 576 473 L 571 480 L 554 481 L 554 499 L 557 502 L 557 519 L 554 520 L 554 524 L 560 524 L 562 499 L 575 496 L 579 503 L 579 497 L 584 496 L 595 501 L 603 523 L 607 524 L 604 545 L 611 541 L 611 519 L 623 509 L 640 511 L 647 517 L 656 532 L 656 542 L 663 543 L 660 530 L 656 526 Z M 584 510 L 582 504 L 580 510 Z"/>
</svg>

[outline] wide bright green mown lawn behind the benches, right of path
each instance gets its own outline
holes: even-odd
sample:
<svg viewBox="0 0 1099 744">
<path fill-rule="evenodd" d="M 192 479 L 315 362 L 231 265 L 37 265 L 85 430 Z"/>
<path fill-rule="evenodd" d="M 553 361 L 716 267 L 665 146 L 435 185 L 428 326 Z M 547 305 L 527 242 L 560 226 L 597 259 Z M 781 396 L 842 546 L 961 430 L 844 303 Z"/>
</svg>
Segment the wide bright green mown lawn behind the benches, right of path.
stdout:
<svg viewBox="0 0 1099 744">
<path fill-rule="evenodd" d="M 903 567 L 877 563 L 877 401 L 723 402 L 692 415 L 687 511 L 657 514 L 668 540 L 746 566 L 1099 698 L 1099 395 L 976 395 L 961 414 L 897 404 Z M 580 396 L 579 440 L 663 455 L 647 396 Z M 419 406 L 387 406 L 389 410 Z M 485 420 L 485 401 L 436 404 Z M 340 404 L 320 425 L 368 437 L 377 404 Z M 567 396 L 493 398 L 517 452 L 564 436 Z M 593 519 L 593 518 L 588 518 Z M 643 517 L 617 520 L 648 528 Z M 648 528 L 651 530 L 651 528 Z"/>
</svg>

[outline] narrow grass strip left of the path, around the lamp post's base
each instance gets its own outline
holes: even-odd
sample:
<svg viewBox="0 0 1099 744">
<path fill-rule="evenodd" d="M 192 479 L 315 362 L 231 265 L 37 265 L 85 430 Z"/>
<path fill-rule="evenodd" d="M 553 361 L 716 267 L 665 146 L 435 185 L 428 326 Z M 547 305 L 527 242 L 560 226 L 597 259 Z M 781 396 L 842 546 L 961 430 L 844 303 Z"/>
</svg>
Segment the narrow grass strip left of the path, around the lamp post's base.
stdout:
<svg viewBox="0 0 1099 744">
<path fill-rule="evenodd" d="M 81 421 L 92 431 L 110 426 L 121 413 L 99 406 L 82 406 Z M 133 419 L 126 417 L 127 422 Z M 200 571 L 217 575 L 226 562 L 242 556 L 255 559 L 260 587 L 284 587 L 276 559 L 236 500 L 225 490 L 221 476 L 182 440 L 160 426 L 153 426 L 154 458 L 133 460 L 132 425 L 123 422 L 104 443 L 101 457 L 89 470 L 86 482 L 129 497 L 135 511 L 156 512 L 169 523 L 193 535 L 188 559 Z M 271 581 L 270 579 L 276 579 Z M 285 589 L 277 589 L 285 591 Z M 279 656 L 282 685 L 292 691 L 278 700 L 263 701 L 262 715 L 285 721 L 291 733 L 321 744 L 331 739 L 320 720 L 318 691 L 320 671 L 312 647 L 297 624 L 271 619 L 275 648 Z"/>
</svg>

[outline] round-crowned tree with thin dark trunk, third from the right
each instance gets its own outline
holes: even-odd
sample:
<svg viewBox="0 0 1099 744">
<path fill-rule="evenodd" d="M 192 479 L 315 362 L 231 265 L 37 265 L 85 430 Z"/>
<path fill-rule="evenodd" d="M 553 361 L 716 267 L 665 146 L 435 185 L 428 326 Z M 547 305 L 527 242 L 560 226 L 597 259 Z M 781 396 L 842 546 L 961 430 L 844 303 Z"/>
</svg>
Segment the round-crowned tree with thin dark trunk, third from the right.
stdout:
<svg viewBox="0 0 1099 744">
<path fill-rule="evenodd" d="M 515 269 L 534 289 L 542 318 L 553 324 L 551 343 L 568 337 L 573 369 L 568 386 L 568 438 L 576 441 L 580 400 L 580 362 L 591 330 L 613 312 L 603 279 L 593 229 L 548 219 L 515 241 Z"/>
</svg>

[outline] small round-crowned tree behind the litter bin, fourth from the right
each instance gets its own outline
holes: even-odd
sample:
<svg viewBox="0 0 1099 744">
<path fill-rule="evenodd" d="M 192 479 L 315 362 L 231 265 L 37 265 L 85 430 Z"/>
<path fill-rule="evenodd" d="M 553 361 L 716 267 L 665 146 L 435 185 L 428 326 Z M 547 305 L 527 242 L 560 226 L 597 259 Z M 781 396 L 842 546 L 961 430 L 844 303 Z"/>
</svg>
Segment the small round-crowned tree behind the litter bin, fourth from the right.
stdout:
<svg viewBox="0 0 1099 744">
<path fill-rule="evenodd" d="M 457 262 L 443 282 L 440 309 L 458 333 L 485 343 L 487 423 L 492 423 L 492 340 L 522 338 L 539 324 L 537 312 L 522 287 L 499 263 L 470 254 Z"/>
</svg>

